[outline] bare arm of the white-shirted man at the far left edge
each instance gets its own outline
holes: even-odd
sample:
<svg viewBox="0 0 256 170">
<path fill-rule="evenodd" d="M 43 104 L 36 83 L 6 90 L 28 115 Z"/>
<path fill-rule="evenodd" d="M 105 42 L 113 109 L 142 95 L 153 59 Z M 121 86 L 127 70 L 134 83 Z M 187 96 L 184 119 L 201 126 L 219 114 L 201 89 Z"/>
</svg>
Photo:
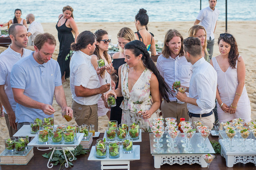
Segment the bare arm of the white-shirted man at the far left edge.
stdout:
<svg viewBox="0 0 256 170">
<path fill-rule="evenodd" d="M 8 114 L 10 126 L 12 126 L 13 129 L 15 128 L 17 130 L 17 123 L 15 123 L 15 113 L 13 112 L 8 97 L 5 93 L 4 86 L 5 85 L 0 85 L 0 101 L 4 106 L 6 113 Z"/>
</svg>

